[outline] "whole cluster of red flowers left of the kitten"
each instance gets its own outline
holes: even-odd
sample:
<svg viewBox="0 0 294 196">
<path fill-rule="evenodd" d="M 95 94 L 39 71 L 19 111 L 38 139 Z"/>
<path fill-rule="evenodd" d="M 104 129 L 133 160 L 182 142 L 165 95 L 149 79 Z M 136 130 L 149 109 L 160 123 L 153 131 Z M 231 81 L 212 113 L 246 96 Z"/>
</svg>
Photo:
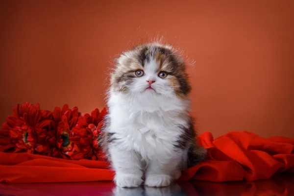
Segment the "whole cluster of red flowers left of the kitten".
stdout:
<svg viewBox="0 0 294 196">
<path fill-rule="evenodd" d="M 53 112 L 24 103 L 13 108 L 0 129 L 0 151 L 28 152 L 63 159 L 104 160 L 98 147 L 106 109 L 81 115 L 67 104 Z"/>
</svg>

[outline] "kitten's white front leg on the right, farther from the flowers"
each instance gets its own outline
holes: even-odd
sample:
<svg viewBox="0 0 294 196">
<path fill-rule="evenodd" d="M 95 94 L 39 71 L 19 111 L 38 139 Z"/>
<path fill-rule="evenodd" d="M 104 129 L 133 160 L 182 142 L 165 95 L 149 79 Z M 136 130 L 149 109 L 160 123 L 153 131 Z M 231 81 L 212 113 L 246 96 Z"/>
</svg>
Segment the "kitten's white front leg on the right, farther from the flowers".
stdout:
<svg viewBox="0 0 294 196">
<path fill-rule="evenodd" d="M 180 162 L 183 160 L 182 152 L 178 149 L 172 154 L 158 153 L 150 160 L 147 166 L 145 185 L 149 187 L 169 186 L 177 175 Z"/>
</svg>

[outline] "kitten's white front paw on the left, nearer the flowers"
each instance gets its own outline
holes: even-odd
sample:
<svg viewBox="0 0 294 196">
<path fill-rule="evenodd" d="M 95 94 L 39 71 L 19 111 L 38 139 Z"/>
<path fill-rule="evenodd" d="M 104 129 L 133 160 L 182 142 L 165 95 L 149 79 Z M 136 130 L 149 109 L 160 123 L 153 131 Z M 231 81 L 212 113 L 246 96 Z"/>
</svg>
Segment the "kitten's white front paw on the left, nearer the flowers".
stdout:
<svg viewBox="0 0 294 196">
<path fill-rule="evenodd" d="M 118 173 L 114 180 L 117 186 L 128 188 L 141 186 L 143 182 L 141 176 L 129 173 Z"/>
</svg>

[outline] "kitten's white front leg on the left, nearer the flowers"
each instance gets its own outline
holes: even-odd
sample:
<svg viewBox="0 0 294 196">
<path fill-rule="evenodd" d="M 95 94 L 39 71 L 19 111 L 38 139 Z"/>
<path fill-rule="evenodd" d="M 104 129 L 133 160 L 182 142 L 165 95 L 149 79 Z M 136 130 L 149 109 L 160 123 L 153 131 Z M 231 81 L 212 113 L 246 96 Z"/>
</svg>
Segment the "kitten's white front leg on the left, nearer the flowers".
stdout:
<svg viewBox="0 0 294 196">
<path fill-rule="evenodd" d="M 112 166 L 116 172 L 114 181 L 120 187 L 138 187 L 142 184 L 142 163 L 133 150 L 123 150 L 116 146 L 109 148 Z"/>
</svg>

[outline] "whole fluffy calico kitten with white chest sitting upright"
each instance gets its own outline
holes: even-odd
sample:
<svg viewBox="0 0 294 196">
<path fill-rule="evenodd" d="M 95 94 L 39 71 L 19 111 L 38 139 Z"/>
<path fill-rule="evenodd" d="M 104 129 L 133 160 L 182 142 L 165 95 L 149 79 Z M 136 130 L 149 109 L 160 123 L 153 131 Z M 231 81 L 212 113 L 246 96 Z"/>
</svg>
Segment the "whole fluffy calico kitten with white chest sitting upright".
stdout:
<svg viewBox="0 0 294 196">
<path fill-rule="evenodd" d="M 121 187 L 170 185 L 205 158 L 196 145 L 183 59 L 170 46 L 146 44 L 124 52 L 111 74 L 100 141 Z"/>
</svg>

